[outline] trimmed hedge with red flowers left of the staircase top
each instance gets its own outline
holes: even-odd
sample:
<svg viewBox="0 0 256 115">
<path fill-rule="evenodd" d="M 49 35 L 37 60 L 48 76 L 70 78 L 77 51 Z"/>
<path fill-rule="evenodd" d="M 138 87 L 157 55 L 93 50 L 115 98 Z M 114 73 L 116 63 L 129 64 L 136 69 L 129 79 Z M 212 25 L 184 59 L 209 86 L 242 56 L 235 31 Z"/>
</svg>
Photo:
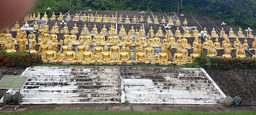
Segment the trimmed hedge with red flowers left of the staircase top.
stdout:
<svg viewBox="0 0 256 115">
<path fill-rule="evenodd" d="M 0 66 L 28 67 L 42 64 L 42 57 L 39 54 L 28 54 L 28 52 L 0 51 Z"/>
</svg>

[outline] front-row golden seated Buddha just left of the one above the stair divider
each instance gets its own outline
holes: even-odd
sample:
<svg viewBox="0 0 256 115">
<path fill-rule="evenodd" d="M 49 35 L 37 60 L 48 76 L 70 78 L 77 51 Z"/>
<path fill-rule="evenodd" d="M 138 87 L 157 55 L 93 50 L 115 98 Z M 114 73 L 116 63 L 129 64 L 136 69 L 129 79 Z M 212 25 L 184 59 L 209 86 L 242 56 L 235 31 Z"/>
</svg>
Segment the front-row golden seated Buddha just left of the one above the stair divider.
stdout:
<svg viewBox="0 0 256 115">
<path fill-rule="evenodd" d="M 111 60 L 111 52 L 108 52 L 108 45 L 104 46 L 104 52 L 100 53 L 100 64 L 110 64 L 113 65 L 115 63 L 114 60 Z"/>
</svg>

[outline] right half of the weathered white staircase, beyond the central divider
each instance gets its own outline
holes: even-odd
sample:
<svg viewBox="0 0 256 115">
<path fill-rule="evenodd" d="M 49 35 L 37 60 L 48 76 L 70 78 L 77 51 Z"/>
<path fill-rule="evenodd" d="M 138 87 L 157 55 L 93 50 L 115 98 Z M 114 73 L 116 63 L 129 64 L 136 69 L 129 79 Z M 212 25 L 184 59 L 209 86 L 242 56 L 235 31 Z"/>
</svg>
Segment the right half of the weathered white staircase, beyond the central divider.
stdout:
<svg viewBox="0 0 256 115">
<path fill-rule="evenodd" d="M 199 68 L 123 68 L 122 71 L 123 97 L 131 104 L 216 104 L 225 96 Z"/>
</svg>

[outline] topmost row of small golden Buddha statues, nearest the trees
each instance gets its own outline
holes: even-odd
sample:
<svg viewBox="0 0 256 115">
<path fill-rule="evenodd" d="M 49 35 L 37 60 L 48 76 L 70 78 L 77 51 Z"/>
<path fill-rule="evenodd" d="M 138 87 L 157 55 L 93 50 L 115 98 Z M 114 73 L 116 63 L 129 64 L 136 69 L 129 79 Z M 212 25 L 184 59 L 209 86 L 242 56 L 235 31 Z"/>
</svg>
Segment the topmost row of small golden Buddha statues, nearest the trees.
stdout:
<svg viewBox="0 0 256 115">
<path fill-rule="evenodd" d="M 137 17 L 134 15 L 133 18 L 130 18 L 128 17 L 128 15 L 126 16 L 126 18 L 123 18 L 121 15 L 119 18 L 114 17 L 114 15 L 112 15 L 112 17 L 109 17 L 109 15 L 103 15 L 102 14 L 98 14 L 98 15 L 95 15 L 93 16 L 93 14 L 88 14 L 86 15 L 86 13 L 84 13 L 83 15 L 79 16 L 78 13 L 76 13 L 76 15 L 74 16 L 74 18 L 72 18 L 70 16 L 70 13 L 68 13 L 67 17 L 64 19 L 64 16 L 62 15 L 62 13 L 60 13 L 60 15 L 58 15 L 58 17 L 56 18 L 56 15 L 55 13 L 53 12 L 52 13 L 52 17 L 49 18 L 50 20 L 67 20 L 67 21 L 82 21 L 82 22 L 113 22 L 113 23 L 138 23 L 138 22 L 152 22 L 151 21 L 151 18 L 150 16 L 148 15 L 148 19 L 147 21 L 145 21 L 143 19 L 143 16 L 141 15 L 141 18 L 140 20 L 137 19 Z M 24 17 L 24 20 L 25 21 L 28 21 L 28 20 L 49 20 L 48 19 L 48 16 L 46 14 L 46 12 L 44 13 L 44 16 L 42 18 L 40 18 L 40 13 L 38 12 L 38 15 L 37 17 L 35 16 L 35 13 L 33 13 L 33 16 L 32 14 L 27 15 L 26 17 Z M 175 21 L 175 24 L 173 23 L 173 20 L 172 20 L 172 17 L 170 17 L 170 19 L 168 20 L 168 22 L 166 22 L 165 18 L 163 17 L 163 19 L 161 19 L 161 22 L 159 22 L 159 20 L 157 19 L 157 16 L 154 18 L 154 24 L 168 24 L 170 26 L 180 26 L 181 25 L 181 22 L 179 20 L 179 17 L 177 18 L 177 20 Z M 188 25 L 188 21 L 185 19 L 184 22 L 182 23 L 184 26 L 187 26 Z"/>
</svg>

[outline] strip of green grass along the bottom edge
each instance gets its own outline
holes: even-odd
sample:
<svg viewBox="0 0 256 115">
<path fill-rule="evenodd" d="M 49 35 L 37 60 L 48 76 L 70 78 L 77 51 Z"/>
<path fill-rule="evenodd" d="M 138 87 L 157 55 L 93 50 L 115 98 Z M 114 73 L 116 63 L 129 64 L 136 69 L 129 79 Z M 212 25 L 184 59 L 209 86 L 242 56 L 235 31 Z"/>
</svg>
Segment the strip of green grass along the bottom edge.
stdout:
<svg viewBox="0 0 256 115">
<path fill-rule="evenodd" d="M 67 115 L 76 115 L 76 114 L 99 114 L 99 115 L 104 115 L 104 114 L 111 114 L 111 115 L 115 115 L 115 114 L 120 114 L 120 115 L 125 115 L 125 114 L 211 114 L 211 115 L 219 115 L 219 114 L 232 114 L 232 115 L 243 115 L 243 114 L 256 114 L 256 112 L 193 112 L 193 111 L 156 111 L 156 112 L 136 112 L 136 111 L 99 111 L 99 112 L 90 112 L 90 111 L 53 111 L 53 110 L 44 110 L 44 111 L 22 111 L 22 112 L 8 112 L 8 113 L 3 113 L 0 112 L 0 114 L 8 114 L 8 115 L 12 115 L 12 114 L 28 114 L 28 115 L 37 115 L 37 114 L 51 114 L 51 115 L 59 115 L 59 114 L 67 114 Z"/>
</svg>

